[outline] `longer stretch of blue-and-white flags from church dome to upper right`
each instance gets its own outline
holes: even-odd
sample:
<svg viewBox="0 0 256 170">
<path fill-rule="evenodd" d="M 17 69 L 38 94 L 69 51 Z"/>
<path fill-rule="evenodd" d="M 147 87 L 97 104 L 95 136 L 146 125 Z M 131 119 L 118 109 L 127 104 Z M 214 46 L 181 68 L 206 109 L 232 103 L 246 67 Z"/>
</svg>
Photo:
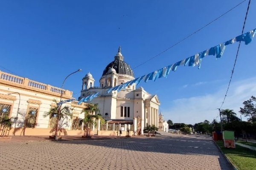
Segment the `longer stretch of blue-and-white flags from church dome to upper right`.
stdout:
<svg viewBox="0 0 256 170">
<path fill-rule="evenodd" d="M 131 80 L 129 82 L 125 82 L 122 85 L 117 85 L 113 88 L 109 88 L 107 93 L 110 93 L 111 91 L 119 92 L 123 88 L 126 88 L 128 85 L 132 85 L 133 83 L 138 85 L 138 84 L 140 84 L 140 82 L 142 80 L 144 80 L 144 82 L 148 82 L 148 80 L 156 81 L 158 78 L 162 78 L 162 77 L 167 78 L 170 71 L 176 71 L 177 67 L 180 65 L 184 65 L 184 66 L 188 65 L 188 66 L 192 66 L 192 67 L 197 65 L 198 69 L 200 69 L 202 59 L 204 57 L 206 57 L 207 55 L 216 56 L 216 59 L 221 58 L 227 45 L 233 44 L 235 42 L 241 42 L 241 41 L 243 41 L 245 43 L 245 45 L 248 45 L 253 40 L 253 37 L 255 36 L 255 34 L 256 34 L 256 29 L 253 29 L 252 31 L 241 34 L 231 40 L 228 40 L 228 41 L 218 44 L 212 48 L 209 48 L 208 50 L 202 51 L 202 52 L 195 54 L 191 57 L 180 60 L 179 62 L 168 65 L 164 68 L 160 68 L 156 71 L 153 71 L 149 74 L 145 74 L 145 75 L 143 75 L 139 78 L 136 78 L 134 80 Z"/>
</svg>

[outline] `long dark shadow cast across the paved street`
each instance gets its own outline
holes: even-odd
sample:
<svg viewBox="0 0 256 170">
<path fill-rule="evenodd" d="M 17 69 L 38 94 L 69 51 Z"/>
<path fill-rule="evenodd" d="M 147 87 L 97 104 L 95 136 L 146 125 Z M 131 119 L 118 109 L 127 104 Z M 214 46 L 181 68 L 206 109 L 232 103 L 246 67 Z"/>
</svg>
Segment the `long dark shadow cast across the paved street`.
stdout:
<svg viewBox="0 0 256 170">
<path fill-rule="evenodd" d="M 219 156 L 218 148 L 211 140 L 198 140 L 184 137 L 143 137 L 118 138 L 111 140 L 58 141 L 67 144 L 89 144 L 99 147 L 111 147 L 156 153 L 204 154 Z"/>
</svg>

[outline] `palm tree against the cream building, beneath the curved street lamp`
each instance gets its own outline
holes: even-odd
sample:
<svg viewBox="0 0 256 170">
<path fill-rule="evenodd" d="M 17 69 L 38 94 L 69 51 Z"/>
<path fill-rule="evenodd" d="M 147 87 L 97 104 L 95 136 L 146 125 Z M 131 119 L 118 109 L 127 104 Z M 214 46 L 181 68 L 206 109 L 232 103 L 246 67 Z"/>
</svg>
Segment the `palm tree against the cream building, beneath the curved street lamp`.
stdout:
<svg viewBox="0 0 256 170">
<path fill-rule="evenodd" d="M 69 106 L 66 105 L 61 108 L 60 115 L 58 117 L 59 106 L 57 105 L 57 101 L 55 99 L 53 100 L 53 102 L 56 103 L 56 106 L 52 106 L 49 112 L 44 114 L 44 117 L 49 116 L 49 118 L 52 119 L 52 122 L 55 122 L 53 125 L 53 129 L 51 130 L 52 132 L 56 130 L 57 126 L 61 126 L 56 124 L 57 119 L 59 119 L 59 122 L 61 122 L 60 121 L 61 119 L 64 120 L 64 119 L 68 119 L 69 117 L 72 119 L 72 116 L 73 116 L 72 114 L 73 108 L 70 108 Z M 58 129 L 59 129 L 59 133 L 61 133 L 62 129 L 61 128 L 58 128 Z"/>
</svg>

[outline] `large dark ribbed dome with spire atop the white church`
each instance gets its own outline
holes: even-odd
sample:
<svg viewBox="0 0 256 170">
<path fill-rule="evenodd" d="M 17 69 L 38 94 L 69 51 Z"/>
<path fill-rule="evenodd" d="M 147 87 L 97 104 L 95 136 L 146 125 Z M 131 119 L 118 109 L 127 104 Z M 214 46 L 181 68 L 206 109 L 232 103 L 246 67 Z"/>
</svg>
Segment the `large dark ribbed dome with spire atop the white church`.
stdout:
<svg viewBox="0 0 256 170">
<path fill-rule="evenodd" d="M 102 76 L 108 73 L 109 68 L 114 69 L 117 74 L 126 74 L 134 77 L 134 73 L 125 61 L 123 61 L 123 56 L 121 54 L 121 47 L 118 48 L 118 52 L 115 56 L 115 60 L 107 65 L 105 70 L 103 71 Z"/>
</svg>

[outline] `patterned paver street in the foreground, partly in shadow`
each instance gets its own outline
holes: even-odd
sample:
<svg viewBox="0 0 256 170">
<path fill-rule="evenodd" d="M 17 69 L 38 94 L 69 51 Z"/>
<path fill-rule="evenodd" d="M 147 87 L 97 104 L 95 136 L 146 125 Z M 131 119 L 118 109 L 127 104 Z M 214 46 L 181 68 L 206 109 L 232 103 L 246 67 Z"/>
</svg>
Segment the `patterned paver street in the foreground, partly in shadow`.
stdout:
<svg viewBox="0 0 256 170">
<path fill-rule="evenodd" d="M 231 170 L 212 140 L 162 136 L 0 142 L 0 170 Z"/>
</svg>

